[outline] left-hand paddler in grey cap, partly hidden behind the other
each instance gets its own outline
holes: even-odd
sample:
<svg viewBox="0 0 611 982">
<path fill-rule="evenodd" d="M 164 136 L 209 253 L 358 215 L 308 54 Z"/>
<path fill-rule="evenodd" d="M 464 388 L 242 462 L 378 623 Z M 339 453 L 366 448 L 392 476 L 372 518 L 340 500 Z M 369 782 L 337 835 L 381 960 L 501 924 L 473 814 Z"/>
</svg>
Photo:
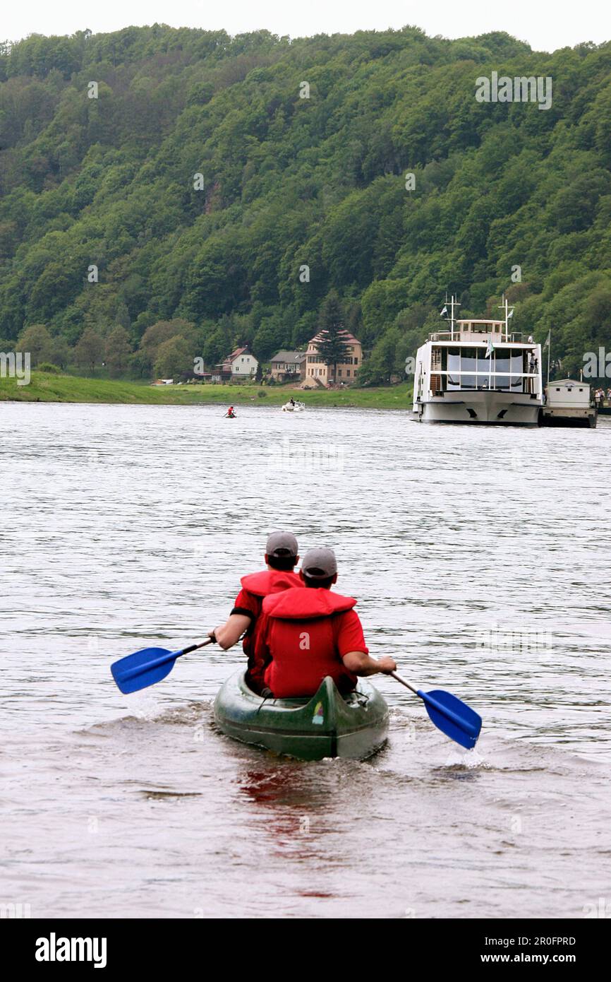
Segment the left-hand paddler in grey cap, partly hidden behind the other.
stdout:
<svg viewBox="0 0 611 982">
<path fill-rule="evenodd" d="M 301 586 L 302 582 L 293 570 L 299 561 L 299 547 L 292 532 L 272 532 L 265 547 L 267 570 L 242 576 L 242 589 L 237 595 L 229 618 L 224 625 L 215 627 L 209 636 L 214 638 L 226 651 L 244 634 L 242 647 L 248 659 L 246 682 L 253 692 L 263 687 L 265 664 L 257 661 L 257 625 L 263 600 L 271 593 L 278 593 L 290 587 Z"/>
</svg>

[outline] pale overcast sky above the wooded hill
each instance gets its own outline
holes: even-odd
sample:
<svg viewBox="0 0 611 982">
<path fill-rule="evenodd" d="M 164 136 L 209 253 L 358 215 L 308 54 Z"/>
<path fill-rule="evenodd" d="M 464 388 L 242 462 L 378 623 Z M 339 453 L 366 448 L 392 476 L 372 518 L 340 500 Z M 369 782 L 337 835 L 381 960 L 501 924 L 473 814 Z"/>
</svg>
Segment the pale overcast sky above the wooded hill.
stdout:
<svg viewBox="0 0 611 982">
<path fill-rule="evenodd" d="M 94 32 L 128 25 L 224 27 L 229 34 L 267 27 L 291 37 L 317 33 L 352 33 L 359 29 L 417 25 L 428 34 L 465 37 L 506 30 L 535 50 L 553 51 L 580 41 L 609 40 L 608 0 L 5 0 L 0 40 L 26 34 Z"/>
</svg>

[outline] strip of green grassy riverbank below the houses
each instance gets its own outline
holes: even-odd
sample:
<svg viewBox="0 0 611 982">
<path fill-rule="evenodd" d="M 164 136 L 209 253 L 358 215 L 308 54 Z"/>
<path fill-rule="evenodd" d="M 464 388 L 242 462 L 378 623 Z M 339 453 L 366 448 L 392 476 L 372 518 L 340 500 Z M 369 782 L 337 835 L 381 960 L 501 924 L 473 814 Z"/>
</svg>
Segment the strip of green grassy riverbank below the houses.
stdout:
<svg viewBox="0 0 611 982">
<path fill-rule="evenodd" d="M 265 395 L 259 396 L 260 392 Z M 234 406 L 281 406 L 291 396 L 302 400 L 307 406 L 409 409 L 412 385 L 405 382 L 380 389 L 344 389 L 337 392 L 316 389 L 304 393 L 292 388 L 261 388 L 258 385 L 151 386 L 36 371 L 31 373 L 29 385 L 18 385 L 14 378 L 0 379 L 0 402 L 140 403 L 158 406 L 191 406 L 196 403 L 229 406 L 232 403 Z"/>
</svg>

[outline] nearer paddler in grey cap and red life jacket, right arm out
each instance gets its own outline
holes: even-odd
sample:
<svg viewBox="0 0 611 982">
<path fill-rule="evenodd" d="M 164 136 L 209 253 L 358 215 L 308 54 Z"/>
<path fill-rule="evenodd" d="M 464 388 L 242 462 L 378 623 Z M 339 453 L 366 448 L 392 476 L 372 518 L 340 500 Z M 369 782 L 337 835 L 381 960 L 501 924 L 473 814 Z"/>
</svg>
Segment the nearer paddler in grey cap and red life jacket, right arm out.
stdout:
<svg viewBox="0 0 611 982">
<path fill-rule="evenodd" d="M 310 549 L 299 575 L 300 587 L 263 601 L 256 658 L 267 663 L 264 695 L 314 695 L 326 676 L 348 692 L 358 676 L 396 671 L 392 658 L 370 658 L 356 600 L 331 592 L 337 580 L 332 549 Z"/>
</svg>

